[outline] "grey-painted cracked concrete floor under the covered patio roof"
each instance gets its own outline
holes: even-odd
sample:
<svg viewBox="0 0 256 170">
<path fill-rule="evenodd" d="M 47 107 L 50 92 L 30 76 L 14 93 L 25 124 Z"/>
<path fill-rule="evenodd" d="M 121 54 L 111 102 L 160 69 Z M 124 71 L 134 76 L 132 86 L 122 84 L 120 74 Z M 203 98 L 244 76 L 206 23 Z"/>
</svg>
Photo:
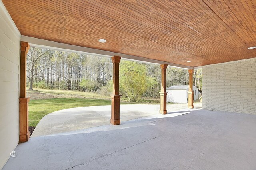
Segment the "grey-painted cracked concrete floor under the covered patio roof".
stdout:
<svg viewBox="0 0 256 170">
<path fill-rule="evenodd" d="M 182 109 L 32 137 L 3 169 L 255 170 L 255 132 L 256 115 Z"/>
</svg>

